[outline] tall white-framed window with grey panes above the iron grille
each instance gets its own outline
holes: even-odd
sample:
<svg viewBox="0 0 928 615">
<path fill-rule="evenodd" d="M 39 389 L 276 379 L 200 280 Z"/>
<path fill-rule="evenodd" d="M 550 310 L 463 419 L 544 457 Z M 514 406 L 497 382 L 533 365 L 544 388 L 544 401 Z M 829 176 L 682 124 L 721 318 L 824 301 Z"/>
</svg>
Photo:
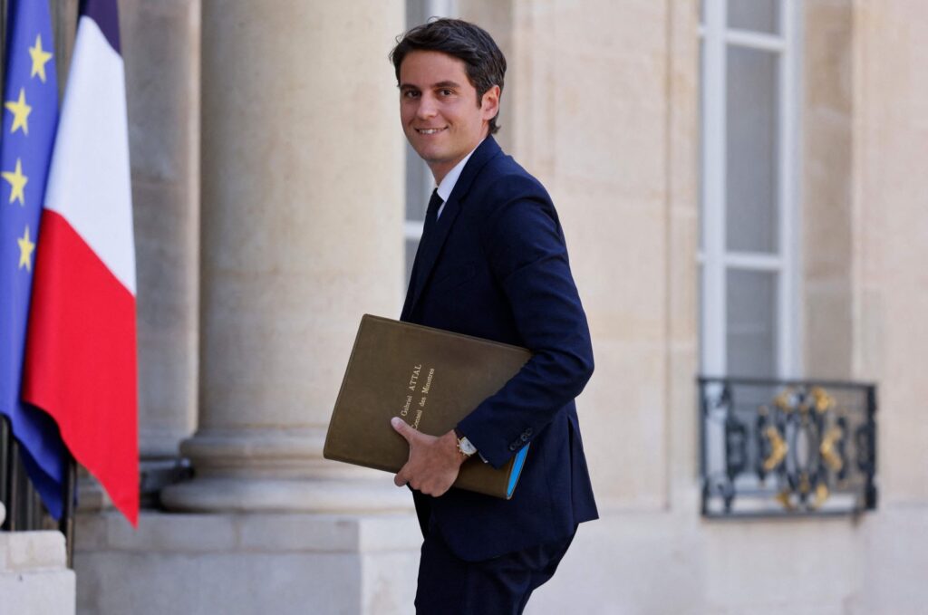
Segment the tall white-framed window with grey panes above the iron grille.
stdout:
<svg viewBox="0 0 928 615">
<path fill-rule="evenodd" d="M 799 365 L 795 0 L 702 0 L 701 369 Z"/>
</svg>

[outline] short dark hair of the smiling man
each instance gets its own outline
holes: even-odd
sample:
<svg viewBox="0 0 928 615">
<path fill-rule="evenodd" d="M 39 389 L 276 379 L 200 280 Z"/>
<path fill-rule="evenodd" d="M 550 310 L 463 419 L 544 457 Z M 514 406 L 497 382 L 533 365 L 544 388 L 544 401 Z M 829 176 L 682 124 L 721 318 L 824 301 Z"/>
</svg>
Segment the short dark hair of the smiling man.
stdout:
<svg viewBox="0 0 928 615">
<path fill-rule="evenodd" d="M 470 84 L 477 90 L 477 107 L 494 85 L 499 86 L 502 95 L 506 58 L 493 37 L 480 26 L 461 19 L 433 19 L 397 37 L 396 46 L 390 52 L 396 83 L 400 81 L 400 65 L 412 51 L 440 51 L 464 62 Z M 498 130 L 494 116 L 490 120 L 489 134 L 496 135 Z"/>
</svg>

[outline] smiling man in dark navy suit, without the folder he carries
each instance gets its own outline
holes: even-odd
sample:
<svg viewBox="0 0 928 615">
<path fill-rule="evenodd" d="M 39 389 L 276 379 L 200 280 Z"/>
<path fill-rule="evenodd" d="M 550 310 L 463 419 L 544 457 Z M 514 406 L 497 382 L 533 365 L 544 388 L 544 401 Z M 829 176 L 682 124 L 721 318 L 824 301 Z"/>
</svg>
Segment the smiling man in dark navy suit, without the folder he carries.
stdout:
<svg viewBox="0 0 928 615">
<path fill-rule="evenodd" d="M 402 319 L 533 352 L 457 429 L 394 418 L 424 542 L 419 613 L 521 613 L 577 525 L 596 519 L 574 397 L 593 372 L 586 315 L 545 188 L 496 145 L 506 59 L 487 32 L 439 19 L 391 53 L 406 138 L 434 175 Z M 449 489 L 461 464 L 531 444 L 510 500 Z"/>
</svg>

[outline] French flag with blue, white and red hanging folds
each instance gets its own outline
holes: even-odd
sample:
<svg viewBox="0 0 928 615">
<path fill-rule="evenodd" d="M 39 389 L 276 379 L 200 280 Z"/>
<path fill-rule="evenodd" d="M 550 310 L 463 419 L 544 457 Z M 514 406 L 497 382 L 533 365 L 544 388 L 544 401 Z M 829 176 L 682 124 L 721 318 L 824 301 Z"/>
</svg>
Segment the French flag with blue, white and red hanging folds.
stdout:
<svg viewBox="0 0 928 615">
<path fill-rule="evenodd" d="M 23 398 L 138 518 L 135 241 L 116 0 L 83 0 L 38 241 Z"/>
</svg>

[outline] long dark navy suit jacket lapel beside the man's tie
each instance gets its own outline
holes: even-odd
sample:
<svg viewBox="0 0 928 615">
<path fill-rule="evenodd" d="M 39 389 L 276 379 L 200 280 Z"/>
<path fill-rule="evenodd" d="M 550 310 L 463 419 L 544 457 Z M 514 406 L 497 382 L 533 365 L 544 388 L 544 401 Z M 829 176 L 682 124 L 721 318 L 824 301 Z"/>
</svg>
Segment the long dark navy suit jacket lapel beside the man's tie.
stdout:
<svg viewBox="0 0 928 615">
<path fill-rule="evenodd" d="M 455 184 L 451 194 L 448 195 L 448 200 L 445 201 L 445 209 L 442 211 L 441 217 L 435 221 L 429 237 L 422 237 L 419 250 L 416 251 L 412 278 L 409 280 L 409 288 L 406 291 L 406 305 L 403 307 L 404 318 L 412 314 L 429 279 L 432 277 L 432 269 L 442 252 L 442 248 L 445 246 L 445 239 L 447 239 L 451 227 L 458 219 L 461 201 L 467 196 L 470 186 L 483 169 L 483 166 L 499 154 L 500 151 L 499 146 L 496 145 L 496 139 L 492 136 L 487 136 L 483 140 L 483 143 L 474 150 L 470 160 L 464 165 L 464 170 L 458 177 L 458 183 Z"/>
</svg>

